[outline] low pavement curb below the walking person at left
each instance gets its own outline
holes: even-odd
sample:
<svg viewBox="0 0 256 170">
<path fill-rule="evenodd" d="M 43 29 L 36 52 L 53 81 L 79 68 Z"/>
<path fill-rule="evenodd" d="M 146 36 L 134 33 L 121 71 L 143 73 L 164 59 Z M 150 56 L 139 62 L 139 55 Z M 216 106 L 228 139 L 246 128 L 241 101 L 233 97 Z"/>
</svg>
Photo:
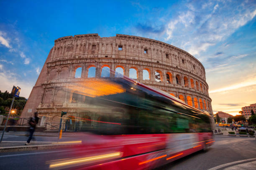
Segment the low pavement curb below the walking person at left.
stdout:
<svg viewBox="0 0 256 170">
<path fill-rule="evenodd" d="M 64 148 L 64 147 L 71 147 L 71 146 L 74 146 L 74 145 L 70 145 L 70 144 L 69 145 L 68 144 L 51 144 L 51 145 L 12 146 L 12 147 L 2 147 L 2 148 L 0 148 L 0 152 L 56 149 L 56 148 Z M 75 146 L 79 146 L 79 144 L 77 144 Z"/>
</svg>

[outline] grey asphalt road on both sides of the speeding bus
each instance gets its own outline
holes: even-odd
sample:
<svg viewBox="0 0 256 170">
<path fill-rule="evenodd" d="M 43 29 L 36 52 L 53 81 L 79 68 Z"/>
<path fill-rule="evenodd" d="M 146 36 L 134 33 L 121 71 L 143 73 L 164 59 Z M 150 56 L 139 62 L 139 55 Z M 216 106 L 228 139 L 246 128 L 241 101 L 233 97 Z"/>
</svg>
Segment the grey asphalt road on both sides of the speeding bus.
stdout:
<svg viewBox="0 0 256 170">
<path fill-rule="evenodd" d="M 35 150 L 0 153 L 0 169 L 44 170 L 49 169 L 49 160 L 67 157 L 68 150 Z M 255 158 L 254 160 L 248 160 Z M 240 161 L 242 160 L 242 161 Z M 246 161 L 244 161 L 246 160 Z M 240 161 L 238 163 L 233 163 Z M 224 166 L 223 164 L 230 163 Z M 214 168 L 220 166 L 220 168 Z M 240 166 L 240 167 L 239 167 Z M 174 161 L 156 170 L 254 170 L 256 169 L 256 140 L 221 136 L 215 137 L 215 144 L 207 152 L 197 152 Z"/>
</svg>

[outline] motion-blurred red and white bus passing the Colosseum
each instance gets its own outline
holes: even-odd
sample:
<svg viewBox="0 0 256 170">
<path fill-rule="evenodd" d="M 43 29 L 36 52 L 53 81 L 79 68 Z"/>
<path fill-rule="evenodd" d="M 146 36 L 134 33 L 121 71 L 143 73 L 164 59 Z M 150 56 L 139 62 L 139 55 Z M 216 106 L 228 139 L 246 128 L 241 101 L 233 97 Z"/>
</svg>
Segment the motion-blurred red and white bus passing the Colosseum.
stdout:
<svg viewBox="0 0 256 170">
<path fill-rule="evenodd" d="M 128 77 L 90 78 L 67 91 L 85 133 L 78 151 L 50 168 L 154 169 L 214 142 L 207 112 Z"/>
</svg>

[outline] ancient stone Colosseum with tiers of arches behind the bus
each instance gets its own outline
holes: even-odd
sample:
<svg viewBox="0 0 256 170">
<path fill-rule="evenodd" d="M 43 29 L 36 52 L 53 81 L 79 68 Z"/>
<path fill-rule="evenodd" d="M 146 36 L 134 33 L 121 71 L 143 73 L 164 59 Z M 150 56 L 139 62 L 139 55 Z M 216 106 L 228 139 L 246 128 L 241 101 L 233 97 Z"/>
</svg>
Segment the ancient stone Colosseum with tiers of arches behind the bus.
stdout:
<svg viewBox="0 0 256 170">
<path fill-rule="evenodd" d="M 76 97 L 63 87 L 70 82 L 101 77 L 103 70 L 108 69 L 213 115 L 205 68 L 188 52 L 144 37 L 85 34 L 55 40 L 21 116 L 30 117 L 37 111 L 41 125 L 59 122 L 63 110 L 68 112 L 67 116 L 79 117 Z M 214 128 L 213 119 L 211 122 Z"/>
</svg>

